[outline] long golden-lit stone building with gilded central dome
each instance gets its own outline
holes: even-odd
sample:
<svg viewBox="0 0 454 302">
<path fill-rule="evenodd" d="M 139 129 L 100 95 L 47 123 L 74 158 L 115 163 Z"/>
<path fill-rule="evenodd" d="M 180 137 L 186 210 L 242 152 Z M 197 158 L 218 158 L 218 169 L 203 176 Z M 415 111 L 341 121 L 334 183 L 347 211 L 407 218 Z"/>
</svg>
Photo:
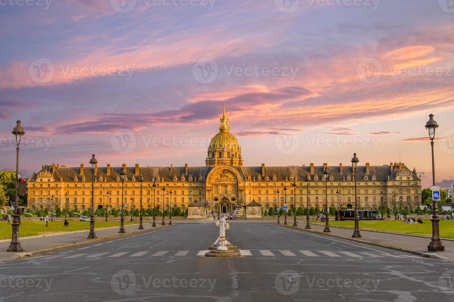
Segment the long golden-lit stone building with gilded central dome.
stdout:
<svg viewBox="0 0 454 302">
<path fill-rule="evenodd" d="M 328 166 L 327 179 L 329 207 L 354 207 L 354 169 L 351 165 L 335 166 L 314 163 L 301 166 L 243 166 L 241 147 L 229 132 L 224 112 L 220 119 L 219 133 L 208 146 L 206 166 L 189 167 L 105 167 L 94 168 L 94 205 L 121 208 L 122 181 L 120 172 L 126 172 L 123 187 L 125 208 L 140 207 L 139 176 L 143 177 L 143 207 L 169 209 L 202 204 L 208 212 L 219 210 L 229 213 L 232 209 L 248 204 L 261 205 L 262 209 L 281 207 L 323 208 L 325 178 L 323 170 Z M 29 180 L 28 207 L 35 209 L 78 209 L 84 211 L 91 205 L 92 168 L 43 165 Z M 310 182 L 306 188 L 305 178 Z M 421 178 L 404 163 L 364 166 L 356 168 L 357 198 L 360 207 L 378 208 L 383 193 L 383 205 L 388 207 L 416 208 L 421 205 Z M 153 183 L 156 187 L 153 189 Z M 293 188 L 296 184 L 296 189 Z M 284 193 L 284 187 L 286 191 Z M 280 192 L 278 194 L 277 192 Z M 109 197 L 106 193 L 109 192 Z M 339 192 L 339 195 L 336 194 Z M 53 197 L 53 198 L 52 198 Z"/>
</svg>

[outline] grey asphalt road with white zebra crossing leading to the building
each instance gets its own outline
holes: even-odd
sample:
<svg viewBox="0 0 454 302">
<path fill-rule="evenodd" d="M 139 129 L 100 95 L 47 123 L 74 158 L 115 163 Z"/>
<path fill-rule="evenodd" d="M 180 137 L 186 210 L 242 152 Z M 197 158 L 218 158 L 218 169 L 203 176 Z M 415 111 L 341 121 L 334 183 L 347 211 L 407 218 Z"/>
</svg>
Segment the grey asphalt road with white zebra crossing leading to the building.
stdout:
<svg viewBox="0 0 454 302">
<path fill-rule="evenodd" d="M 208 258 L 212 222 L 0 262 L 0 301 L 453 301 L 453 261 L 233 223 L 237 258 Z"/>
</svg>

